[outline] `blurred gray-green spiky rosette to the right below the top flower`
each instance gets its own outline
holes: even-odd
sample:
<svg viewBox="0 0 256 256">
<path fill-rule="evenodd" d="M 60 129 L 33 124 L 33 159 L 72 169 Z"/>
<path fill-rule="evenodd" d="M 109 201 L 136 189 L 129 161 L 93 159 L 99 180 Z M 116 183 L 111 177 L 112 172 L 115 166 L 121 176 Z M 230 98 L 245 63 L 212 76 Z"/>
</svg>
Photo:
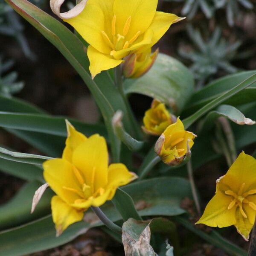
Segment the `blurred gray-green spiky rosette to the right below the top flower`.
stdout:
<svg viewBox="0 0 256 256">
<path fill-rule="evenodd" d="M 226 73 L 238 71 L 236 67 L 230 64 L 230 61 L 235 57 L 236 51 L 241 45 L 240 41 L 230 43 L 221 38 L 219 27 L 213 31 L 207 40 L 204 40 L 201 32 L 198 29 L 193 29 L 192 26 L 188 26 L 187 32 L 197 50 L 187 52 L 179 49 L 179 53 L 183 58 L 192 61 L 190 68 L 195 79 L 198 80 L 198 87 L 201 87 L 204 81 L 215 75 L 218 70 L 224 70 Z"/>
</svg>

